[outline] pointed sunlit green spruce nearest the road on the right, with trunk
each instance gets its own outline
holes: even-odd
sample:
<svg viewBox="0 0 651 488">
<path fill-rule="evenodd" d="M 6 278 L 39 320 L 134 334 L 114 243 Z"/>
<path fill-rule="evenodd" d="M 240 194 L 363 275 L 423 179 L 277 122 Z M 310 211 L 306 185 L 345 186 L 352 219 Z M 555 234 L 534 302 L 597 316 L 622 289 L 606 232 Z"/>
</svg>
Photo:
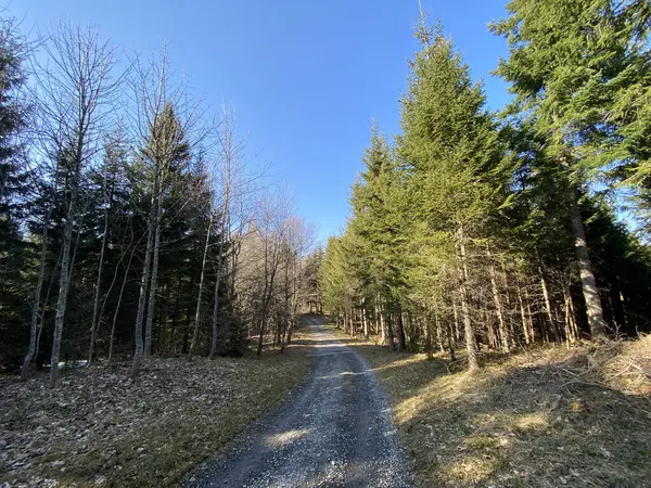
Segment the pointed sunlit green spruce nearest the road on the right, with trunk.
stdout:
<svg viewBox="0 0 651 488">
<path fill-rule="evenodd" d="M 397 149 L 406 185 L 404 201 L 408 202 L 405 217 L 412 221 L 413 247 L 421 253 L 435 236 L 451 243 L 437 244 L 436 251 L 456 254 L 469 367 L 475 371 L 469 246 L 485 237 L 486 221 L 499 204 L 499 182 L 493 170 L 500 162 L 501 147 L 482 86 L 472 84 L 451 41 L 441 27 L 432 30 L 425 25 L 418 38 L 422 50 L 411 63 Z M 443 260 L 451 261 L 452 256 Z"/>
</svg>

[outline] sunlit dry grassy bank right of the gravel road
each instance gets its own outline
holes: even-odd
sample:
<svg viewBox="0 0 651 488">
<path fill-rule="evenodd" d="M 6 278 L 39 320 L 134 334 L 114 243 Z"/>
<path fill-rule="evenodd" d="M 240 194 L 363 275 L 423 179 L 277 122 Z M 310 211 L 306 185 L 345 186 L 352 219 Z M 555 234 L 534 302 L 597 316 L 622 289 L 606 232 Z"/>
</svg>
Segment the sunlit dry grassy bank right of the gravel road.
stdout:
<svg viewBox="0 0 651 488">
<path fill-rule="evenodd" d="M 651 336 L 484 357 L 476 375 L 337 337 L 378 374 L 417 487 L 651 487 Z"/>
</svg>

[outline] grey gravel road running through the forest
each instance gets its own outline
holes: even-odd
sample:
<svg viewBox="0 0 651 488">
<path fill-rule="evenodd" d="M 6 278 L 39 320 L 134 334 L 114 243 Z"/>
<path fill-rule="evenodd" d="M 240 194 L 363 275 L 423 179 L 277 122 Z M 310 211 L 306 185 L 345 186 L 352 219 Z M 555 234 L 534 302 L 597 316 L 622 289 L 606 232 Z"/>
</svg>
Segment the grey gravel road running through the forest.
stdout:
<svg viewBox="0 0 651 488">
<path fill-rule="evenodd" d="M 366 360 L 309 317 L 315 364 L 303 385 L 225 458 L 182 486 L 410 486 L 386 399 Z"/>
</svg>

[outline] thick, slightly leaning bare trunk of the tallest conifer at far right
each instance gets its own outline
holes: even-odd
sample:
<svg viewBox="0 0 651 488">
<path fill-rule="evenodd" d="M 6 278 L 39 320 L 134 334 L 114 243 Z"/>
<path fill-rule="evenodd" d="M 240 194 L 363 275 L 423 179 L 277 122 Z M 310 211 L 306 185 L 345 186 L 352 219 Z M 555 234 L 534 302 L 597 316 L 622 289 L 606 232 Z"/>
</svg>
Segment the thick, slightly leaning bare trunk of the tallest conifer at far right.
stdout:
<svg viewBox="0 0 651 488">
<path fill-rule="evenodd" d="M 578 208 L 576 191 L 574 189 L 571 189 L 570 215 L 572 219 L 572 231 L 574 233 L 574 248 L 576 251 L 578 272 L 580 274 L 583 295 L 586 301 L 588 325 L 590 326 L 590 337 L 592 339 L 598 339 L 605 336 L 605 320 L 603 319 L 603 308 L 601 306 L 599 290 L 597 288 L 597 279 L 592 272 L 592 264 L 590 262 L 583 220 Z"/>
</svg>

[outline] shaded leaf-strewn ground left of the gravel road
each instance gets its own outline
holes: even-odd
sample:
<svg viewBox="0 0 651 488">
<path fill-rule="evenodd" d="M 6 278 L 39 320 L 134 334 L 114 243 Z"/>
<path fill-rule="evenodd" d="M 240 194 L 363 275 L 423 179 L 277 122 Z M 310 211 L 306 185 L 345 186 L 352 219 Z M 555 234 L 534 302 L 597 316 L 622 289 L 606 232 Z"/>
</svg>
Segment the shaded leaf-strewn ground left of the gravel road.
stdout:
<svg viewBox="0 0 651 488">
<path fill-rule="evenodd" d="M 154 358 L 65 372 L 50 389 L 0 377 L 0 487 L 176 487 L 271 410 L 314 361 L 310 336 L 261 358 Z"/>
</svg>

